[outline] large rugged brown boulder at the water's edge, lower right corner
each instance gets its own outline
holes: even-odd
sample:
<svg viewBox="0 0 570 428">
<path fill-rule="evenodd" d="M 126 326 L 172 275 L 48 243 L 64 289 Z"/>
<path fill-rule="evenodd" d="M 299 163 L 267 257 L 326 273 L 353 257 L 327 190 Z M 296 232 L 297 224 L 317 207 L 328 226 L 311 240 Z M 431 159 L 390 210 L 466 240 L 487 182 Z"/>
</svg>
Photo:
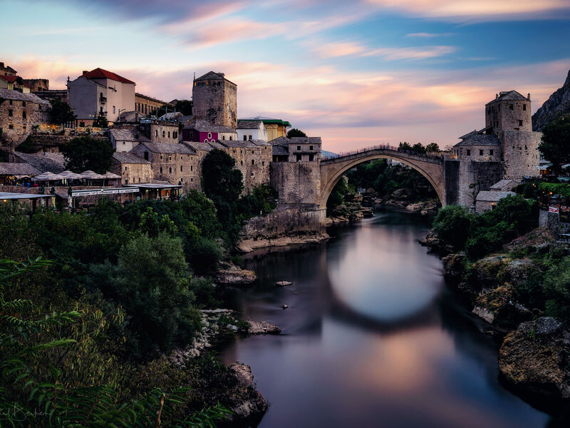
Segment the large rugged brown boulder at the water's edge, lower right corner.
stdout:
<svg viewBox="0 0 570 428">
<path fill-rule="evenodd" d="M 499 371 L 525 393 L 570 398 L 570 334 L 551 317 L 522 322 L 499 350 Z"/>
</svg>

